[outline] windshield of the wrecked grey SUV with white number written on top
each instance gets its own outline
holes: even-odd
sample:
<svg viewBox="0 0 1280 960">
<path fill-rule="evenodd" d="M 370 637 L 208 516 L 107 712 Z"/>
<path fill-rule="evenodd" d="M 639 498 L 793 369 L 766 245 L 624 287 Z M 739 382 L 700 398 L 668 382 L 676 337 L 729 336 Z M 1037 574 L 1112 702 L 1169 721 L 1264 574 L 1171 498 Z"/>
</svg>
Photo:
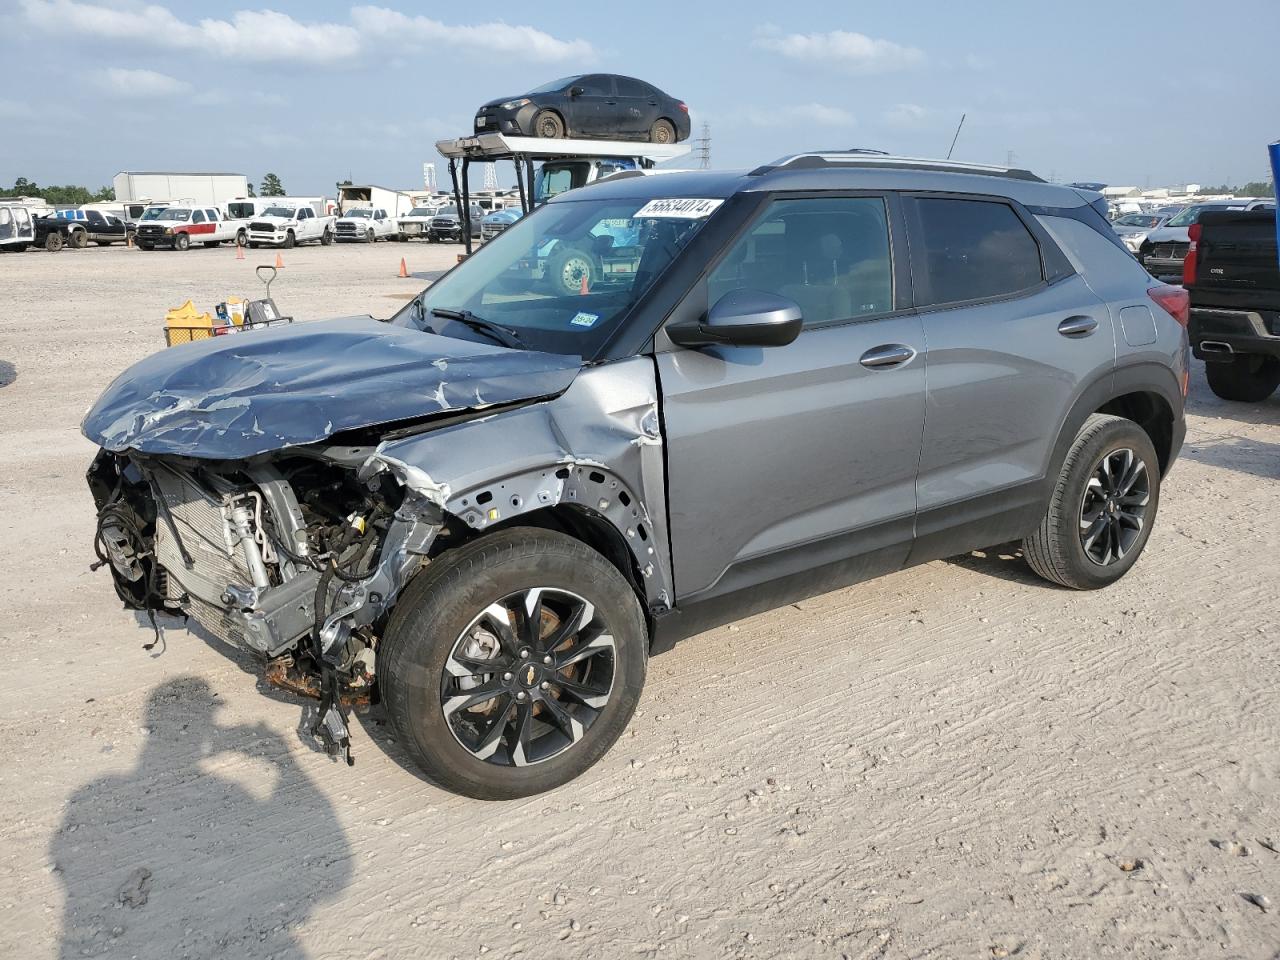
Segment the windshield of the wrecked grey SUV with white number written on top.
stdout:
<svg viewBox="0 0 1280 960">
<path fill-rule="evenodd" d="M 696 202 L 705 205 L 701 216 L 654 211 L 654 201 L 637 198 L 539 207 L 410 301 L 393 323 L 486 339 L 431 316 L 467 311 L 516 330 L 530 349 L 591 360 L 719 206 Z"/>
</svg>

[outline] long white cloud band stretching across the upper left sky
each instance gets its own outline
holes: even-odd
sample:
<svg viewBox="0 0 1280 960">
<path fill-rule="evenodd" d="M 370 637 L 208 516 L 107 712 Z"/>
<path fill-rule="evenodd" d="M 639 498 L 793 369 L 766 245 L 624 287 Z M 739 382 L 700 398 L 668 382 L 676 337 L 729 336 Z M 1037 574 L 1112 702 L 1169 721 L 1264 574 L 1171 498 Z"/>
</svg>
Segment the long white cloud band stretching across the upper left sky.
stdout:
<svg viewBox="0 0 1280 960">
<path fill-rule="evenodd" d="M 424 41 L 543 63 L 595 56 L 584 40 L 558 40 L 534 27 L 445 24 L 385 6 L 353 6 L 351 23 L 303 23 L 275 10 L 238 10 L 230 19 L 188 22 L 159 4 L 131 9 L 82 0 L 20 4 L 27 22 L 50 33 L 143 41 L 169 50 L 200 50 L 260 63 L 337 63 Z"/>
</svg>

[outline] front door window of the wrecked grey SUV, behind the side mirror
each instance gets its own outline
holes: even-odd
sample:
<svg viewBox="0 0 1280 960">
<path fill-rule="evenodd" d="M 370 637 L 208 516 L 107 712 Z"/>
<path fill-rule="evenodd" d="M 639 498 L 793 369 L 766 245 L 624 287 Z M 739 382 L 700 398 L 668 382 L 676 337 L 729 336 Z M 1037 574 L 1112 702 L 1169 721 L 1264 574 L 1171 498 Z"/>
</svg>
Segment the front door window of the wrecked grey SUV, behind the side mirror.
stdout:
<svg viewBox="0 0 1280 960">
<path fill-rule="evenodd" d="M 776 200 L 707 280 L 707 301 L 733 289 L 800 305 L 805 326 L 893 310 L 888 215 L 882 197 Z"/>
</svg>

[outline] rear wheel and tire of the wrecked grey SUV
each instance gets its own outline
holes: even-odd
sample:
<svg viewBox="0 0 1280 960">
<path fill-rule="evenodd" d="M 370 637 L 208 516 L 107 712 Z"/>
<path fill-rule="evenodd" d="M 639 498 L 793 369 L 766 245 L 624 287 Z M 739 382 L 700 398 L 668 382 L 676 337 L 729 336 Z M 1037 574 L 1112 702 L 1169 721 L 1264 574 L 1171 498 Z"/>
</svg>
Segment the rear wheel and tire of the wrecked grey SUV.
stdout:
<svg viewBox="0 0 1280 960">
<path fill-rule="evenodd" d="M 1160 458 L 1147 431 L 1132 420 L 1094 413 L 1068 451 L 1044 518 L 1023 540 L 1023 556 L 1055 584 L 1108 586 L 1137 563 L 1158 507 Z M 1098 532 L 1091 536 L 1085 524 Z"/>
</svg>

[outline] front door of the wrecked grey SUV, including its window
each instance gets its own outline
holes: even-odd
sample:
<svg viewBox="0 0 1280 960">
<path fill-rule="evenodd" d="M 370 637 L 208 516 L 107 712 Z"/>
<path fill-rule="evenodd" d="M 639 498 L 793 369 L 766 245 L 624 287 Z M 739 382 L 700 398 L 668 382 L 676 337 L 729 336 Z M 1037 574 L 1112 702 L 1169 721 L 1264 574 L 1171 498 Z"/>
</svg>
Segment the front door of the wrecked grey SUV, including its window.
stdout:
<svg viewBox="0 0 1280 960">
<path fill-rule="evenodd" d="M 892 196 L 772 198 L 672 314 L 698 319 L 746 288 L 790 297 L 804 316 L 785 347 L 659 343 L 678 600 L 905 561 L 924 337 L 896 268 L 896 211 Z"/>
</svg>

